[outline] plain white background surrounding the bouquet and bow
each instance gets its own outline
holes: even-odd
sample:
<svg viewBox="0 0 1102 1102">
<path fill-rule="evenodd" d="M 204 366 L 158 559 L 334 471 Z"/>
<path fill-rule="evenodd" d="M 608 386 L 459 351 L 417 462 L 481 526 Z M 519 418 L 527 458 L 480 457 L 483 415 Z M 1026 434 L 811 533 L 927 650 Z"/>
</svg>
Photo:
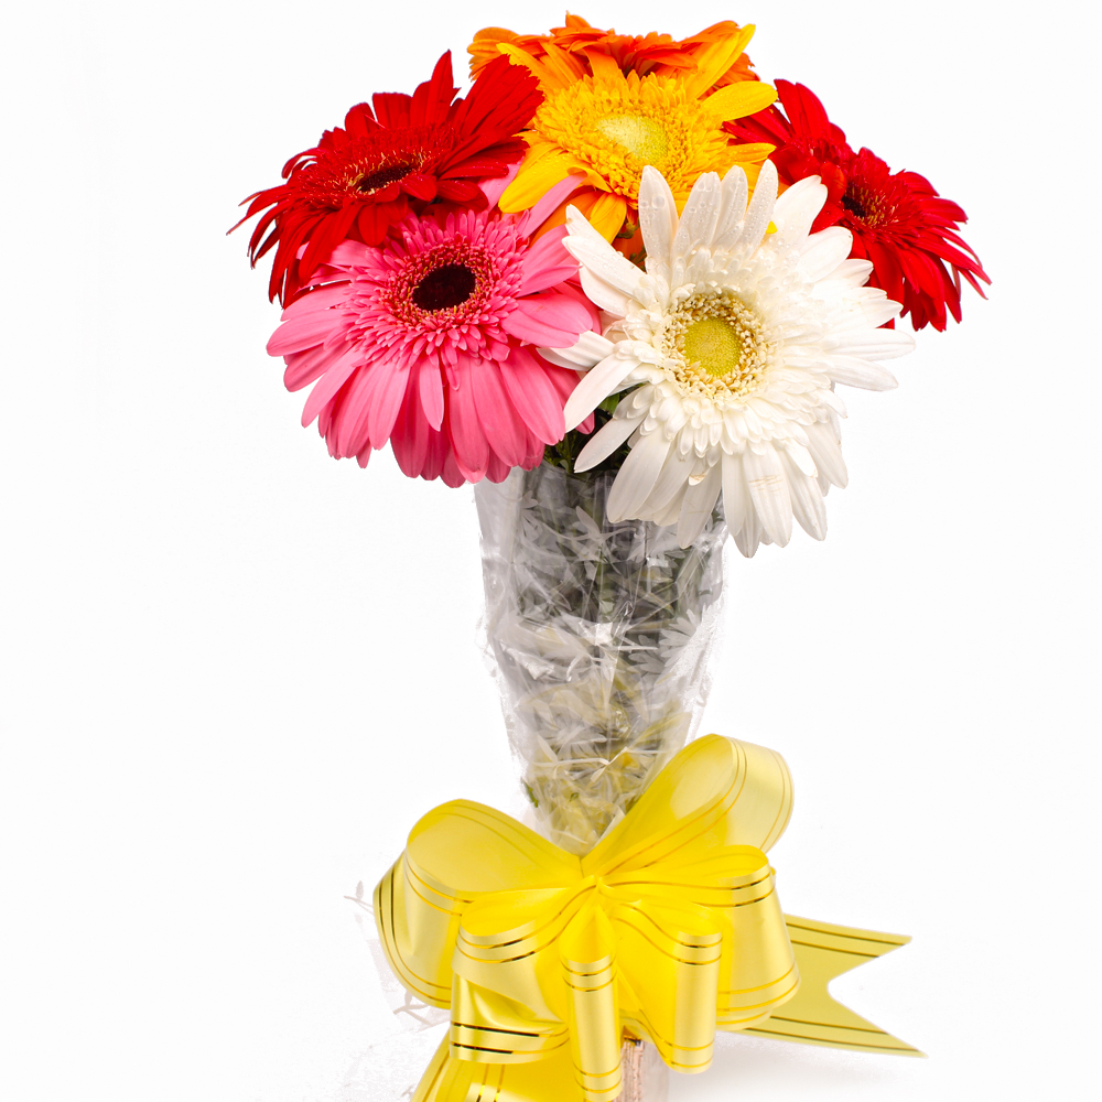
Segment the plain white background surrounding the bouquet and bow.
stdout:
<svg viewBox="0 0 1102 1102">
<path fill-rule="evenodd" d="M 995 280 L 963 326 L 920 335 L 897 391 L 846 395 L 825 543 L 731 561 L 702 728 L 792 768 L 773 852 L 789 911 L 914 934 L 835 993 L 930 1059 L 733 1038 L 671 1096 L 1084 1098 L 1099 28 L 1060 3 L 581 10 L 625 32 L 757 23 L 761 75 L 807 83 L 855 145 L 960 202 Z M 391 1102 L 404 1041 L 344 896 L 434 804 L 518 808 L 472 495 L 389 455 L 334 463 L 299 428 L 264 354 L 267 272 L 224 231 L 352 104 L 412 90 L 445 47 L 462 66 L 485 24 L 561 15 L 6 18 L 11 1102 Z"/>
</svg>

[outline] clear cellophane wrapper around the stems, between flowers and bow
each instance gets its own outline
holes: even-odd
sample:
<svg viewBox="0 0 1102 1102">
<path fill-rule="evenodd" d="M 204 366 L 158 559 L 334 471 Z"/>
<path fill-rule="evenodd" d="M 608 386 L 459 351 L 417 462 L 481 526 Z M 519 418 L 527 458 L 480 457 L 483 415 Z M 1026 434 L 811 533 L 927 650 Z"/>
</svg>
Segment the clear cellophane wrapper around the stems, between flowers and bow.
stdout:
<svg viewBox="0 0 1102 1102">
<path fill-rule="evenodd" d="M 475 487 L 486 635 L 525 791 L 585 853 L 693 734 L 722 607 L 720 515 L 677 528 L 605 518 L 615 473 L 541 464 Z"/>
</svg>

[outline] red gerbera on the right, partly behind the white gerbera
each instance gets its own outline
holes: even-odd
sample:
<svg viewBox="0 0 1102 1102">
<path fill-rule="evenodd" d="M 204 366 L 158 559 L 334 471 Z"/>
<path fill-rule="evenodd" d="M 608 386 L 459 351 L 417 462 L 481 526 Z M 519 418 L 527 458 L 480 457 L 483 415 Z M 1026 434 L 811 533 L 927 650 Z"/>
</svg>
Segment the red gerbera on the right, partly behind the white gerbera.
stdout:
<svg viewBox="0 0 1102 1102">
<path fill-rule="evenodd" d="M 903 303 L 916 329 L 943 329 L 948 312 L 961 320 L 961 277 L 986 298 L 990 283 L 980 258 L 957 230 L 964 212 L 942 198 L 917 172 L 892 172 L 875 153 L 855 153 L 827 117 L 818 97 L 801 84 L 777 80 L 784 114 L 767 107 L 724 129 L 739 142 L 771 142 L 770 160 L 793 184 L 818 175 L 828 198 L 812 231 L 835 224 L 853 233 L 851 257 L 872 261 L 868 282 Z"/>
</svg>

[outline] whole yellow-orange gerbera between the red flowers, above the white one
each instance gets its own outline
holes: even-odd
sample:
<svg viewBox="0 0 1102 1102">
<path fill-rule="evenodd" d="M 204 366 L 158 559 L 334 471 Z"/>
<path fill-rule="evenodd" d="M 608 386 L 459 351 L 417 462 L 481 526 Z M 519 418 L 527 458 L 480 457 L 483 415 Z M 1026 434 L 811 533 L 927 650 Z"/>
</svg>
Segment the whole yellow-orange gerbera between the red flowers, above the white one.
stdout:
<svg viewBox="0 0 1102 1102">
<path fill-rule="evenodd" d="M 576 174 L 583 186 L 573 204 L 613 240 L 625 219 L 625 236 L 635 231 L 639 181 L 648 164 L 669 181 L 679 209 L 703 172 L 741 163 L 753 180 L 773 145 L 732 145 L 723 122 L 759 110 L 748 105 L 768 105 L 776 93 L 758 80 L 711 90 L 742 52 L 750 30 L 713 43 L 692 71 L 674 76 L 640 76 L 635 71 L 625 75 L 613 57 L 597 52 L 585 55 L 585 65 L 553 43 L 545 44 L 538 61 L 501 43 L 501 51 L 539 77 L 547 97 L 525 134 L 529 149 L 501 196 L 501 209 L 523 210 Z M 557 215 L 564 216 L 565 210 Z"/>
</svg>

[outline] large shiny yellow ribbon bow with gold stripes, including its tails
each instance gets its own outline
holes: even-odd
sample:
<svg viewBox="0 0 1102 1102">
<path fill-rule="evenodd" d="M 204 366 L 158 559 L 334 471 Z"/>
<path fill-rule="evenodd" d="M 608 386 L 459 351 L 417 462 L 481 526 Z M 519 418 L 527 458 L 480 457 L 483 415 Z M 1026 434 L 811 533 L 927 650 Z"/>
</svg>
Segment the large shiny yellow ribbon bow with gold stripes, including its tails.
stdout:
<svg viewBox="0 0 1102 1102">
<path fill-rule="evenodd" d="M 583 857 L 479 803 L 430 811 L 375 892 L 395 973 L 452 1011 L 413 1102 L 612 1102 L 625 1036 L 678 1071 L 716 1029 L 920 1055 L 827 993 L 909 939 L 781 914 L 764 851 L 791 807 L 780 755 L 709 735 Z"/>
</svg>

